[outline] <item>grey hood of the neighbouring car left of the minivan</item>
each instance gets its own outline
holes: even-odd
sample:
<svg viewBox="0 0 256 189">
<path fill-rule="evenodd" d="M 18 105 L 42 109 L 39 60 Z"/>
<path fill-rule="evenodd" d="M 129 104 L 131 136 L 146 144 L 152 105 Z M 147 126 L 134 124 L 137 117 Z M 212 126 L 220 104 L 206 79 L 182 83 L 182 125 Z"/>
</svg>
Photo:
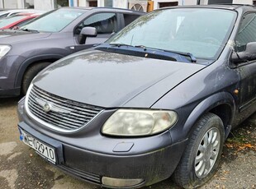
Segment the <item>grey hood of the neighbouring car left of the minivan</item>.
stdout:
<svg viewBox="0 0 256 189">
<path fill-rule="evenodd" d="M 22 30 L 0 30 L 0 44 L 14 44 L 21 41 L 46 38 L 51 33 L 31 33 Z"/>
</svg>

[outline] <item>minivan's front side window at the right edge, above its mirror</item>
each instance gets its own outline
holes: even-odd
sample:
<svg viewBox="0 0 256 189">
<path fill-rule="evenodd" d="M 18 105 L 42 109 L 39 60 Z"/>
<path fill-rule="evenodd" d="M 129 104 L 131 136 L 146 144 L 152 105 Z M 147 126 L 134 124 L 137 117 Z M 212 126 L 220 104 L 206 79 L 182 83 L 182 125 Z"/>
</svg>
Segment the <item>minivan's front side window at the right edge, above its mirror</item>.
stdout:
<svg viewBox="0 0 256 189">
<path fill-rule="evenodd" d="M 235 44 L 238 52 L 244 51 L 246 44 L 256 42 L 256 14 L 250 13 L 244 16 Z"/>
</svg>

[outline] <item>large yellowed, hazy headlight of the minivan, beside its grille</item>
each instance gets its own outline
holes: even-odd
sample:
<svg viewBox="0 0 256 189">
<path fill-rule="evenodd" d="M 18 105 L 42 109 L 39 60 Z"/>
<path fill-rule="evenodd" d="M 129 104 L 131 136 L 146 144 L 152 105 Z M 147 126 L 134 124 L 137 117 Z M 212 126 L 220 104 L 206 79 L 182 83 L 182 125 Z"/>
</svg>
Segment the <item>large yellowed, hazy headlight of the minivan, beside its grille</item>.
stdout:
<svg viewBox="0 0 256 189">
<path fill-rule="evenodd" d="M 112 136 L 149 136 L 172 127 L 177 113 L 164 110 L 119 109 L 108 118 L 102 133 Z"/>
</svg>

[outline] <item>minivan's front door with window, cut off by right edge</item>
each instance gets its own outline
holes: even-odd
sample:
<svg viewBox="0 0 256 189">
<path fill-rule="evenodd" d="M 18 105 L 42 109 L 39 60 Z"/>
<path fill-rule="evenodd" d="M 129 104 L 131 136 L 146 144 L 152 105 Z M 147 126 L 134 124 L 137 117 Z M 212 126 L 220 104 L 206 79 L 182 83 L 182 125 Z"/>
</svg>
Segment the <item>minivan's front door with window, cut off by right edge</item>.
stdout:
<svg viewBox="0 0 256 189">
<path fill-rule="evenodd" d="M 256 42 L 256 13 L 245 14 L 235 39 L 236 51 L 245 50 L 246 44 Z M 256 107 L 256 60 L 239 64 L 239 112 L 255 111 Z M 246 111 L 245 111 L 246 112 Z"/>
</svg>

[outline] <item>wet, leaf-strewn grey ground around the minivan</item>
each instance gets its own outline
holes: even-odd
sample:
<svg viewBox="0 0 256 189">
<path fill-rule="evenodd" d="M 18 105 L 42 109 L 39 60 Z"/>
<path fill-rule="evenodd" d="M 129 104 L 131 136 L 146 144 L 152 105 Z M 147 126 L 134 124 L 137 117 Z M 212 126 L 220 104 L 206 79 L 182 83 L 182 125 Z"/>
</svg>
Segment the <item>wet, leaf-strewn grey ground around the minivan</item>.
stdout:
<svg viewBox="0 0 256 189">
<path fill-rule="evenodd" d="M 17 101 L 0 99 L 0 188 L 101 188 L 59 171 L 19 141 Z M 179 187 L 168 179 L 145 188 Z M 256 113 L 232 131 L 219 171 L 201 188 L 256 188 Z"/>
</svg>

